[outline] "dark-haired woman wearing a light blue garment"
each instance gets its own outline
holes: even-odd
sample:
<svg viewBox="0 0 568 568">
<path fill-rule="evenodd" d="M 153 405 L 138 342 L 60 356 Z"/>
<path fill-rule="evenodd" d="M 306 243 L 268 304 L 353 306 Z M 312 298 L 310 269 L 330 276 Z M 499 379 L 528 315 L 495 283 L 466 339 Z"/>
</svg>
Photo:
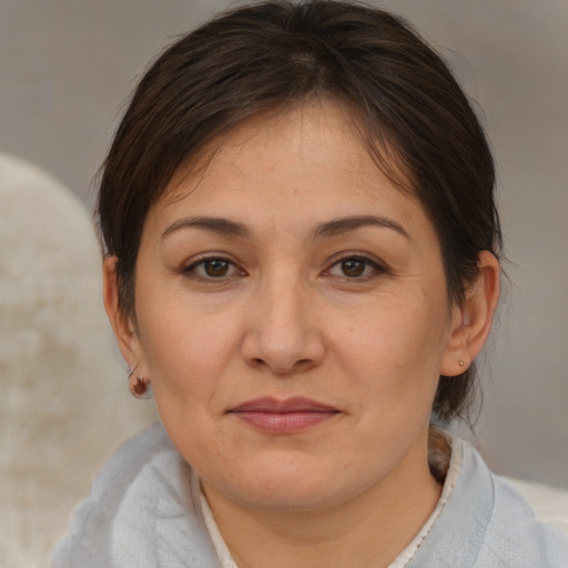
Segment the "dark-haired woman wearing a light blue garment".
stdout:
<svg viewBox="0 0 568 568">
<path fill-rule="evenodd" d="M 388 13 L 265 2 L 172 45 L 98 202 L 106 312 L 162 424 L 53 566 L 566 566 L 430 426 L 467 416 L 490 329 L 493 191 L 465 95 Z"/>
</svg>

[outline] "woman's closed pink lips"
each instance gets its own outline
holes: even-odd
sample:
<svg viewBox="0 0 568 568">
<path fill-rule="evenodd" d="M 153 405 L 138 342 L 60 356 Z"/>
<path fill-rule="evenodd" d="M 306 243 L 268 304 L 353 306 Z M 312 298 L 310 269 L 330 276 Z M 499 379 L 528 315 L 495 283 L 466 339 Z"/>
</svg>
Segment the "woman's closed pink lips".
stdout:
<svg viewBox="0 0 568 568">
<path fill-rule="evenodd" d="M 292 434 L 321 424 L 338 414 L 337 408 L 310 398 L 255 398 L 231 410 L 246 424 L 271 434 Z"/>
</svg>

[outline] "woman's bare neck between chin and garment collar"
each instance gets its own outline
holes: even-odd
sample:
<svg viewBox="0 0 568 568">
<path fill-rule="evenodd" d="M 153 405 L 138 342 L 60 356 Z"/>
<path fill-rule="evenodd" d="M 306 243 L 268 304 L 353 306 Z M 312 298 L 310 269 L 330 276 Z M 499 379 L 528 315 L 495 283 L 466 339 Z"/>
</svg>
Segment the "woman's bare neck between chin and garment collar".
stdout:
<svg viewBox="0 0 568 568">
<path fill-rule="evenodd" d="M 348 501 L 317 510 L 248 508 L 204 488 L 239 568 L 386 567 L 418 534 L 439 498 L 440 486 L 424 454 L 419 470 L 397 467 Z"/>
</svg>

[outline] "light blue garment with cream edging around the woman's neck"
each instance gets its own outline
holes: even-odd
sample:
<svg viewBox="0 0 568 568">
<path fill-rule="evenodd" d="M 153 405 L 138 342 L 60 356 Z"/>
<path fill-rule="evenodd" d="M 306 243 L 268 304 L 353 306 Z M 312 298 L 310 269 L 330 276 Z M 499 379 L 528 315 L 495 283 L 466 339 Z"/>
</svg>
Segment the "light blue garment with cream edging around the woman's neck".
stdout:
<svg viewBox="0 0 568 568">
<path fill-rule="evenodd" d="M 462 444 L 456 486 L 407 568 L 568 568 L 568 540 Z M 126 442 L 75 513 L 52 568 L 220 568 L 191 469 L 161 424 Z M 293 567 L 291 567 L 293 568 Z"/>
</svg>

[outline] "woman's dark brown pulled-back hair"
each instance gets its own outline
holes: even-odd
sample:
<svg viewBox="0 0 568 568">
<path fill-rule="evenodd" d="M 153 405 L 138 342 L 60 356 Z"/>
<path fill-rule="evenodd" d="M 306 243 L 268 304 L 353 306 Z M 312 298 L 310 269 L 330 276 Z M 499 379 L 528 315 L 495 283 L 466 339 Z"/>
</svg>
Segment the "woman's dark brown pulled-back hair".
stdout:
<svg viewBox="0 0 568 568">
<path fill-rule="evenodd" d="M 104 254 L 118 257 L 125 313 L 133 314 L 145 216 L 176 169 L 247 118 L 314 99 L 355 110 L 377 165 L 423 203 L 449 296 L 463 301 L 479 252 L 499 251 L 500 229 L 491 153 L 452 72 L 407 22 L 385 11 L 270 0 L 181 38 L 134 92 L 103 164 L 97 207 Z M 438 419 L 465 414 L 474 373 L 440 377 Z"/>
</svg>

